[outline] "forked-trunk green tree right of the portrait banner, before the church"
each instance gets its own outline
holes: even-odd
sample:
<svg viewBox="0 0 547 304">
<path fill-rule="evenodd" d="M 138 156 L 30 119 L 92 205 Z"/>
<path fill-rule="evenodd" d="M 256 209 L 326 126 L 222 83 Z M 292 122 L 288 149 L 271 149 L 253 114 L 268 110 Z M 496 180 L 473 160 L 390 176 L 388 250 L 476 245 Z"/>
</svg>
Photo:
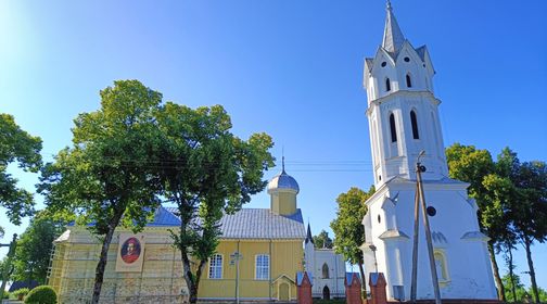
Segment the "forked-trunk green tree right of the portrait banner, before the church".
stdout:
<svg viewBox="0 0 547 304">
<path fill-rule="evenodd" d="M 161 176 L 165 198 L 177 205 L 180 229 L 171 231 L 180 250 L 190 302 L 220 236 L 219 220 L 264 189 L 263 173 L 274 165 L 266 134 L 244 141 L 230 132 L 230 116 L 220 105 L 198 107 L 167 103 L 158 115 Z M 195 266 L 192 266 L 194 262 Z"/>
</svg>

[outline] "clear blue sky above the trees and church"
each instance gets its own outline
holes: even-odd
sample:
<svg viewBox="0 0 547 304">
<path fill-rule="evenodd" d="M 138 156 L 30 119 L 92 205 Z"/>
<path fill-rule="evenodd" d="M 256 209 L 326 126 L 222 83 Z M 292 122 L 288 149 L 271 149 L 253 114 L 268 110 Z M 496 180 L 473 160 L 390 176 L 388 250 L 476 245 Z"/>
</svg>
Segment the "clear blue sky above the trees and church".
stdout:
<svg viewBox="0 0 547 304">
<path fill-rule="evenodd" d="M 547 2 L 392 3 L 406 38 L 431 52 L 445 144 L 546 161 Z M 268 132 L 278 160 L 284 147 L 317 233 L 330 230 L 339 193 L 372 183 L 362 64 L 384 17 L 382 0 L 1 1 L 0 111 L 40 136 L 51 160 L 115 79 L 189 106 L 222 104 L 234 134 Z M 15 174 L 33 190 L 36 176 Z M 249 204 L 268 205 L 265 192 Z M 24 230 L 0 218 L 7 236 Z M 533 254 L 547 288 L 547 245 Z M 526 270 L 523 250 L 517 263 Z"/>
</svg>

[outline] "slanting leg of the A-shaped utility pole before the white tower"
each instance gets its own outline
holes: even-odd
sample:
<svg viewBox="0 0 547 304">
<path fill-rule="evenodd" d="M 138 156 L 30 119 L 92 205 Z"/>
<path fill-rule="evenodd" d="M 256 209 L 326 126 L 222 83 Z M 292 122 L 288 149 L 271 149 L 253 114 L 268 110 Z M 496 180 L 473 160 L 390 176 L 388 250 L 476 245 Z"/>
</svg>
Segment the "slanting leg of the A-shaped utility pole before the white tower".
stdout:
<svg viewBox="0 0 547 304">
<path fill-rule="evenodd" d="M 418 183 L 418 190 L 419 190 L 418 193 L 420 194 L 420 201 L 421 201 L 420 205 L 421 205 L 421 210 L 422 210 L 423 228 L 425 230 L 425 242 L 428 243 L 431 279 L 433 281 L 433 291 L 435 293 L 435 304 L 441 304 L 442 303 L 441 302 L 441 291 L 438 290 L 438 278 L 437 278 L 437 273 L 436 273 L 436 267 L 435 267 L 435 256 L 433 254 L 433 242 L 431 240 L 431 230 L 430 230 L 430 226 L 429 226 L 428 211 L 427 211 L 427 206 L 425 206 L 425 194 L 423 194 L 423 183 L 422 183 L 422 179 L 421 179 L 421 173 L 425 172 L 425 166 L 422 166 L 420 164 L 420 157 L 423 154 L 424 154 L 424 151 L 420 152 L 420 155 L 418 155 L 418 162 L 416 163 L 416 181 Z M 416 226 L 415 226 L 415 229 L 416 229 Z"/>
</svg>

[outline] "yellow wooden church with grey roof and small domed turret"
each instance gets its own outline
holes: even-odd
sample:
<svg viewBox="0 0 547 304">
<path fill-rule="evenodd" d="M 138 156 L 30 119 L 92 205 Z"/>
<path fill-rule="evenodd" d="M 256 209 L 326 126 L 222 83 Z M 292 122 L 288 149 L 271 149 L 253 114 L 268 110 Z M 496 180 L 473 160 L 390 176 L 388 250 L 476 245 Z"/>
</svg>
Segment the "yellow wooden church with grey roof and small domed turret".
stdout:
<svg viewBox="0 0 547 304">
<path fill-rule="evenodd" d="M 295 274 L 303 270 L 306 231 L 296 205 L 296 180 L 284 170 L 268 183 L 269 208 L 242 208 L 220 220 L 221 237 L 199 288 L 200 301 L 295 301 Z M 101 303 L 182 303 L 188 290 L 180 252 L 169 229 L 175 208 L 160 207 L 141 233 L 116 230 Z M 60 303 L 91 297 L 100 242 L 84 227 L 69 226 L 55 240 L 49 284 Z"/>
</svg>

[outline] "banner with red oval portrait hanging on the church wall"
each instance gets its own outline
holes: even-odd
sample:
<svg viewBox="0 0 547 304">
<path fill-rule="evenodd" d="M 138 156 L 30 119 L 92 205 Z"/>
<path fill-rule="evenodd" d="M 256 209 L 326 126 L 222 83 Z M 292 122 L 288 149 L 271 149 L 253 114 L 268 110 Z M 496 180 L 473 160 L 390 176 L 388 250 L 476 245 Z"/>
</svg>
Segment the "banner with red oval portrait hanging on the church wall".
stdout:
<svg viewBox="0 0 547 304">
<path fill-rule="evenodd" d="M 120 233 L 116 273 L 141 273 L 144 262 L 144 235 Z"/>
</svg>

